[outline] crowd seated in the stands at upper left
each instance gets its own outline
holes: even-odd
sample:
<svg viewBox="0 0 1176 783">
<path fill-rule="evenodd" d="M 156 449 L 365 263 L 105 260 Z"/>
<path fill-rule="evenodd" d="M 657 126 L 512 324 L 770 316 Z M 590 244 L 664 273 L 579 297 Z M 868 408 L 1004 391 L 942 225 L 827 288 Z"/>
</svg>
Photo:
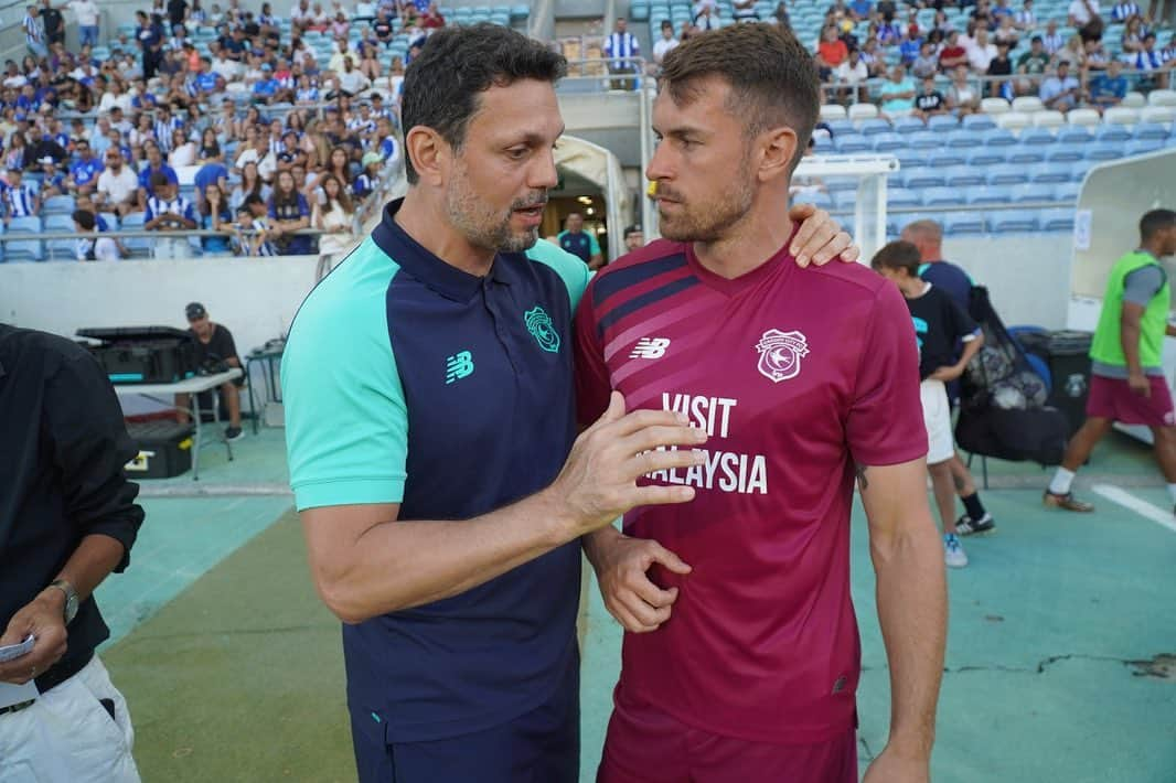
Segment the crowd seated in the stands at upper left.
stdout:
<svg viewBox="0 0 1176 783">
<path fill-rule="evenodd" d="M 62 9 L 79 22 L 75 52 Z M 153 0 L 133 32 L 101 46 L 92 0 L 40 0 L 25 18 L 28 55 L 0 74 L 6 229 L 33 221 L 86 233 L 82 259 L 112 248 L 122 257 L 286 255 L 320 242 L 338 252 L 381 172 L 400 160 L 403 67 L 445 25 L 428 2 L 369 12 L 358 21 L 338 2 L 328 12 L 295 0 L 282 20 L 268 2 L 254 14 L 239 0 L 208 11 L 201 0 Z M 410 41 L 402 58 L 389 56 L 394 29 Z M 161 236 L 99 241 L 118 228 Z M 166 236 L 194 228 L 219 234 Z M 299 233 L 307 228 L 328 234 Z"/>
</svg>

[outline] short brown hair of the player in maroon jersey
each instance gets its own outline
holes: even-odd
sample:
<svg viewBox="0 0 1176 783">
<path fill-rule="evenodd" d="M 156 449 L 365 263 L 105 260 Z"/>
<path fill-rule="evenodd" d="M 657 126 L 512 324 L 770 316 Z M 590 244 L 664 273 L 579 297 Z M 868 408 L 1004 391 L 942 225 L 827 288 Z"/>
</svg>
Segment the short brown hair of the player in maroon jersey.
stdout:
<svg viewBox="0 0 1176 783">
<path fill-rule="evenodd" d="M 706 76 L 730 85 L 728 111 L 744 118 L 748 136 L 781 125 L 796 132 L 795 167 L 816 125 L 821 81 L 791 31 L 762 22 L 722 27 L 690 36 L 662 60 L 662 89 L 677 105 L 693 101 Z"/>
</svg>

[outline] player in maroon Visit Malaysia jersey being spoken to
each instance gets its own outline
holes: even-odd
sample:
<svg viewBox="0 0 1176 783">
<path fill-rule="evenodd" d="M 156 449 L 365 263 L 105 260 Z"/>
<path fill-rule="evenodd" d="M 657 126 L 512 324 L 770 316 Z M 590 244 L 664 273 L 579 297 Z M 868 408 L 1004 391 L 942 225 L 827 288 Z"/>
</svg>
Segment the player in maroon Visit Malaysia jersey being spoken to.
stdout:
<svg viewBox="0 0 1176 783">
<path fill-rule="evenodd" d="M 739 25 L 667 54 L 647 170 L 666 239 L 581 302 L 580 420 L 616 389 L 709 434 L 704 464 L 647 478 L 691 503 L 584 541 L 627 630 L 602 783 L 856 783 L 855 474 L 891 680 L 866 781 L 929 778 L 947 595 L 918 350 L 887 281 L 793 262 L 789 181 L 818 103 L 786 31 Z"/>
</svg>

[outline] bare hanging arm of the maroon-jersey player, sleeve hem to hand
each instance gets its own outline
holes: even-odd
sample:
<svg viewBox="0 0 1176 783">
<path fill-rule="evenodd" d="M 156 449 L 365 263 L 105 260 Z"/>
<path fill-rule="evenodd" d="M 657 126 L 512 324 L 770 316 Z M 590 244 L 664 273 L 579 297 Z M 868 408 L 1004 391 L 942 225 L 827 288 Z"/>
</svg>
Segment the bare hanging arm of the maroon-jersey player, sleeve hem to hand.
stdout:
<svg viewBox="0 0 1176 783">
<path fill-rule="evenodd" d="M 927 504 L 927 464 L 860 466 L 890 664 L 890 738 L 863 783 L 929 779 L 947 637 L 943 544 Z"/>
</svg>

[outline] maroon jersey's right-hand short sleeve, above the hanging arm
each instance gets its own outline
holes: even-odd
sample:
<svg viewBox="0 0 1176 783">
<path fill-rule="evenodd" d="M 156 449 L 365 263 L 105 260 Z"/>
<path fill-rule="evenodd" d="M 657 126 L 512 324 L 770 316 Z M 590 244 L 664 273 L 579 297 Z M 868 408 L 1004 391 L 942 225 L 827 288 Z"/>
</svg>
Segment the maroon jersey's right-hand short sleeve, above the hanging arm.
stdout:
<svg viewBox="0 0 1176 783">
<path fill-rule="evenodd" d="M 882 466 L 927 456 L 918 344 L 910 312 L 896 287 L 878 289 L 866 335 L 846 421 L 854 461 Z"/>
</svg>

